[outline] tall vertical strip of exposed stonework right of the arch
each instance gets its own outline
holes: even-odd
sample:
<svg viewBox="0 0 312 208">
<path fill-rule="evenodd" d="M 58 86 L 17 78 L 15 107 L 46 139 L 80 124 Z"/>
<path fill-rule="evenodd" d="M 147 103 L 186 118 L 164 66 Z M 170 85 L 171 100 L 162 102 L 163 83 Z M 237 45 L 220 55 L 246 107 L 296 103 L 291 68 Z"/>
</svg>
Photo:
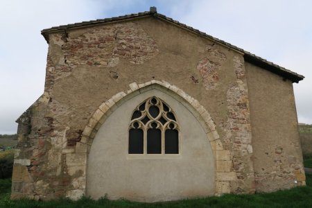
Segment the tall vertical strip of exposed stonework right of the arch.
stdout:
<svg viewBox="0 0 312 208">
<path fill-rule="evenodd" d="M 223 137 L 225 148 L 232 150 L 232 168 L 237 175 L 237 180 L 232 182 L 231 189 L 235 193 L 253 193 L 255 185 L 252 134 L 243 57 L 234 55 L 233 63 L 236 81 L 227 90 L 227 122 L 221 125 L 221 128 L 225 132 Z"/>
</svg>

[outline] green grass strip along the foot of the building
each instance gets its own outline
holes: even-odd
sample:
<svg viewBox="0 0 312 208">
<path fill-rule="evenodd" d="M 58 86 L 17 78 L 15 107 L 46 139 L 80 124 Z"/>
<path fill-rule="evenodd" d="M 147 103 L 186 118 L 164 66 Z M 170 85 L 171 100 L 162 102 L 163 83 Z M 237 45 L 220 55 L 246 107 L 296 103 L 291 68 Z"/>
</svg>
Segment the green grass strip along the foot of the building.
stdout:
<svg viewBox="0 0 312 208">
<path fill-rule="evenodd" d="M 127 200 L 111 201 L 106 198 L 100 200 L 81 198 L 78 201 L 60 199 L 49 202 L 10 200 L 10 180 L 0 180 L 0 207 L 311 207 L 312 175 L 306 175 L 306 182 L 306 187 L 296 187 L 274 193 L 226 194 L 221 197 L 175 202 L 139 203 Z"/>
</svg>

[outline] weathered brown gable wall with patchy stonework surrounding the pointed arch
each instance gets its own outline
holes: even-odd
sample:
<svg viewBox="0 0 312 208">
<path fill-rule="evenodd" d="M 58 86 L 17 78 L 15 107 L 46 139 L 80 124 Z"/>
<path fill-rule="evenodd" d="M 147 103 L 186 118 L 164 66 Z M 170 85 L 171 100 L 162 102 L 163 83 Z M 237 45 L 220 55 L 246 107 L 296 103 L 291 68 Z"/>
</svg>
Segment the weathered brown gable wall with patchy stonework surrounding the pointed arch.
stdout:
<svg viewBox="0 0 312 208">
<path fill-rule="evenodd" d="M 177 86 L 211 115 L 232 161 L 219 167 L 228 173 L 217 175 L 222 193 L 254 193 L 243 55 L 144 17 L 49 34 L 44 96 L 31 107 L 31 132 L 19 143 L 12 198 L 83 195 L 87 155 L 77 150 L 83 130 L 101 103 L 150 80 Z"/>
</svg>

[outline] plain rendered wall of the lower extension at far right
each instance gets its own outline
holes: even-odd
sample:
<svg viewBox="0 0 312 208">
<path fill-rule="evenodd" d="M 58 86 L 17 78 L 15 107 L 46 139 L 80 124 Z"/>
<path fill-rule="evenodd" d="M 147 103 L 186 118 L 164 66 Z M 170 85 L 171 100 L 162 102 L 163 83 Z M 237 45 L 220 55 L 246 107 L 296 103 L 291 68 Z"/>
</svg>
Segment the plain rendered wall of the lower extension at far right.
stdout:
<svg viewBox="0 0 312 208">
<path fill-rule="evenodd" d="M 293 83 L 245 62 L 257 191 L 305 184 Z"/>
</svg>

